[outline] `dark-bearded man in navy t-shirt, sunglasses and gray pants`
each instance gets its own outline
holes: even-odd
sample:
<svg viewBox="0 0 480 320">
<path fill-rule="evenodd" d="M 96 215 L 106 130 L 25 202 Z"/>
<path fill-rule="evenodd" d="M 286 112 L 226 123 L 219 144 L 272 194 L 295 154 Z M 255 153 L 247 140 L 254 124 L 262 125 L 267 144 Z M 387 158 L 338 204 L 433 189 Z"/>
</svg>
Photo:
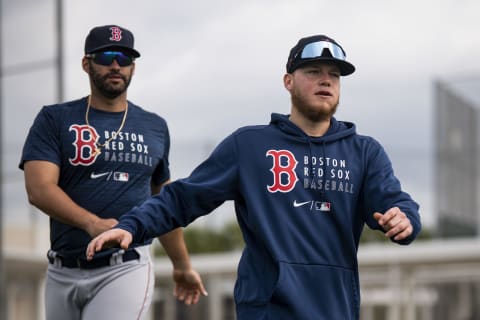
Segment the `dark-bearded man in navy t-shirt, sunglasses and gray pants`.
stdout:
<svg viewBox="0 0 480 320">
<path fill-rule="evenodd" d="M 152 300 L 151 239 L 86 260 L 88 242 L 170 179 L 165 120 L 127 100 L 140 53 L 120 26 L 93 28 L 83 70 L 91 93 L 45 106 L 28 133 L 20 168 L 31 204 L 50 216 L 46 318 L 140 319 Z M 176 295 L 206 294 L 181 228 L 159 238 L 174 267 Z"/>
</svg>

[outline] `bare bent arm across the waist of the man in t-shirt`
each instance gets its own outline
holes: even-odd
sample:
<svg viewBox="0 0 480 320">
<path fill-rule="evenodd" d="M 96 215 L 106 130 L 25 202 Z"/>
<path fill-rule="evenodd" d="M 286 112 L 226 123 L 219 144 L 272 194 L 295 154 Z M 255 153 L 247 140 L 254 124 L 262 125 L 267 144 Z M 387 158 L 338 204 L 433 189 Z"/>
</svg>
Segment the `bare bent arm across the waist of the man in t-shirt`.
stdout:
<svg viewBox="0 0 480 320">
<path fill-rule="evenodd" d="M 113 227 L 115 219 L 101 219 L 77 205 L 59 186 L 60 168 L 49 161 L 24 164 L 28 201 L 51 218 L 85 230 L 94 237 Z"/>
</svg>

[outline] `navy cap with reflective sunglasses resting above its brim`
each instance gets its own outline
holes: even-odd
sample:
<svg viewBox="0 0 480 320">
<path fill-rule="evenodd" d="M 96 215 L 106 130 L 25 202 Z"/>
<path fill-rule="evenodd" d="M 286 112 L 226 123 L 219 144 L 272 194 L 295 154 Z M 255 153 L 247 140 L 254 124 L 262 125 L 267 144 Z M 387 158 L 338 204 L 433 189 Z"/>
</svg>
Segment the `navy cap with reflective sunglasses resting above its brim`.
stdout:
<svg viewBox="0 0 480 320">
<path fill-rule="evenodd" d="M 330 61 L 338 66 L 342 76 L 347 76 L 355 71 L 355 67 L 346 58 L 343 48 L 332 38 L 325 35 L 305 37 L 290 50 L 287 73 L 292 73 L 310 62 Z"/>
</svg>

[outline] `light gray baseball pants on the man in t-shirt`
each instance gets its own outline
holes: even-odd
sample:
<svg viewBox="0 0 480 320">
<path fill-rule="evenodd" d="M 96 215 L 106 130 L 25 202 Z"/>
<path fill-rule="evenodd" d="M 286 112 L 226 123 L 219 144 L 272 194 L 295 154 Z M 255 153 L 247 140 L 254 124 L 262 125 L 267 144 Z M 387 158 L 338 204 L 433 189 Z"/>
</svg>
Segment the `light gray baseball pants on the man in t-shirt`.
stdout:
<svg viewBox="0 0 480 320">
<path fill-rule="evenodd" d="M 154 273 L 149 246 L 136 248 L 139 260 L 96 269 L 48 265 L 47 320 L 144 319 L 152 301 Z"/>
</svg>

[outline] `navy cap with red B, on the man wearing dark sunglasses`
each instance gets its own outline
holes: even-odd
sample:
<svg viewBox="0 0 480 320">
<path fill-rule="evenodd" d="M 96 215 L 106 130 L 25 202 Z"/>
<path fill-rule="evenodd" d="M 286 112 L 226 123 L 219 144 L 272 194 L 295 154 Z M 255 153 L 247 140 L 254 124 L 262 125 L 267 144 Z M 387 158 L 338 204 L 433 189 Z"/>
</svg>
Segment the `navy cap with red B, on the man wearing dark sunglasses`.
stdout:
<svg viewBox="0 0 480 320">
<path fill-rule="evenodd" d="M 90 30 L 85 39 L 85 54 L 117 49 L 140 57 L 140 53 L 133 48 L 133 33 L 117 25 L 99 26 Z"/>
</svg>

